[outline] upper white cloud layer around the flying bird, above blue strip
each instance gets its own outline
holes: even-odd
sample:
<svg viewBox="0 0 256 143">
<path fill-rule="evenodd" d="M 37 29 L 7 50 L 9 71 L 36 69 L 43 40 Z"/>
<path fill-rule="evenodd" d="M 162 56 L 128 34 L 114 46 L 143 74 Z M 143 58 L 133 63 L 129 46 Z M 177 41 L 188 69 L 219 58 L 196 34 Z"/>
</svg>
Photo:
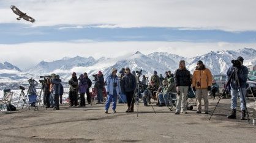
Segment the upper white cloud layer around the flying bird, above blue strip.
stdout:
<svg viewBox="0 0 256 143">
<path fill-rule="evenodd" d="M 17 21 L 11 4 L 33 16 L 36 23 Z M 250 0 L 12 0 L 0 5 L 0 13 L 6 13 L 0 15 L 0 23 L 256 30 L 256 1 Z"/>
</svg>

